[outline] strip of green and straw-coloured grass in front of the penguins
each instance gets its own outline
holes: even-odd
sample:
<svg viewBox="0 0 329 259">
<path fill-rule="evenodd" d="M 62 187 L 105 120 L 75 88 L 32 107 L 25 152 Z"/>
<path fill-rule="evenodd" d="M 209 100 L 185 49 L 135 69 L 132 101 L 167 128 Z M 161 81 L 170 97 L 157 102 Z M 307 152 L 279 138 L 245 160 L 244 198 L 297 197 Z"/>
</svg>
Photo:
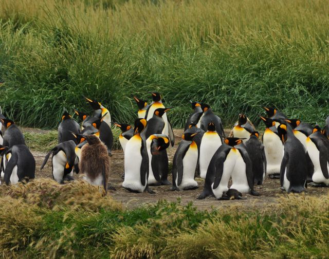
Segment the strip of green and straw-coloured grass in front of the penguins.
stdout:
<svg viewBox="0 0 329 259">
<path fill-rule="evenodd" d="M 0 188 L 4 256 L 324 258 L 329 196 L 288 195 L 260 211 L 159 201 L 123 210 L 97 187 L 51 180 Z M 220 202 L 220 201 L 218 201 Z"/>
</svg>

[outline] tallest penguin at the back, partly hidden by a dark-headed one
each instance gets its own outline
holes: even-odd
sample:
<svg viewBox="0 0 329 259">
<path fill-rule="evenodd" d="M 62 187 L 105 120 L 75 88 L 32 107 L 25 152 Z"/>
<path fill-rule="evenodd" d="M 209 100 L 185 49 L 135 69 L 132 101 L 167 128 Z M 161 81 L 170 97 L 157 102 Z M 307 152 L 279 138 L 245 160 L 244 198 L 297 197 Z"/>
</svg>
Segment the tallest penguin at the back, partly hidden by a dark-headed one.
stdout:
<svg viewBox="0 0 329 259">
<path fill-rule="evenodd" d="M 159 93 L 153 92 L 151 94 L 152 94 L 153 102 L 150 104 L 145 114 L 145 119 L 147 121 L 149 121 L 153 117 L 153 114 L 157 108 L 166 108 L 165 105 L 162 104 L 161 95 Z M 163 114 L 162 118 L 163 121 L 165 121 L 165 127 L 163 128 L 162 134 L 169 136 L 171 146 L 174 146 L 175 143 L 174 132 L 167 114 L 166 113 Z"/>
</svg>

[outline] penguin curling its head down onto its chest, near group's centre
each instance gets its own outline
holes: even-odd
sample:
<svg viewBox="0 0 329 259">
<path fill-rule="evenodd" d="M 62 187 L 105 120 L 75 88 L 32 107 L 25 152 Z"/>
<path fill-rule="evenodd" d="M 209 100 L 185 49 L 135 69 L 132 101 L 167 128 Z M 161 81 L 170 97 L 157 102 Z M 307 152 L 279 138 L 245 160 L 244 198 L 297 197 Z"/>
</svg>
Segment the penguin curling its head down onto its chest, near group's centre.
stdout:
<svg viewBox="0 0 329 259">
<path fill-rule="evenodd" d="M 170 141 L 168 136 L 153 134 L 146 140 L 149 156 L 149 186 L 168 186 L 168 155 L 167 147 Z"/>
</svg>

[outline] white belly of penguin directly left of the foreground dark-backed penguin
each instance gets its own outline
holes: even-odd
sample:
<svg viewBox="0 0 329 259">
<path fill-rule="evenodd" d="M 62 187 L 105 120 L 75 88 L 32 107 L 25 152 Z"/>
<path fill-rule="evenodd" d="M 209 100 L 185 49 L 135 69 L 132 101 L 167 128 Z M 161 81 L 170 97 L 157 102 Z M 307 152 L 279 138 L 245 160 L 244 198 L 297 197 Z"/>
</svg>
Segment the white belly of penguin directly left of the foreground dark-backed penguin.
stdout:
<svg viewBox="0 0 329 259">
<path fill-rule="evenodd" d="M 267 162 L 267 174 L 280 173 L 283 145 L 279 136 L 266 129 L 263 136 L 263 144 Z"/>
</svg>

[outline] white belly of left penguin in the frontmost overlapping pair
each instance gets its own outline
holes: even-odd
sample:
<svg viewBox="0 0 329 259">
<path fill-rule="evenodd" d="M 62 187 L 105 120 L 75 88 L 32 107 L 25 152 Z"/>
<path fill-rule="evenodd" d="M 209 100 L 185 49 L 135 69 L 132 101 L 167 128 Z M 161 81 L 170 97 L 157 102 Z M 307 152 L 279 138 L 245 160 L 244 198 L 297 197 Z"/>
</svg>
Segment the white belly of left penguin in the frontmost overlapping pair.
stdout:
<svg viewBox="0 0 329 259">
<path fill-rule="evenodd" d="M 235 162 L 237 158 L 236 152 L 237 152 L 236 149 L 231 149 L 228 155 L 226 156 L 223 165 L 223 174 L 222 174 L 220 185 L 218 185 L 216 189 L 212 189 L 212 192 L 217 199 L 221 198 L 223 192 L 228 190 L 228 181 L 231 178 L 232 171 L 235 167 Z M 211 188 L 213 188 L 213 184 L 211 185 Z"/>
</svg>

